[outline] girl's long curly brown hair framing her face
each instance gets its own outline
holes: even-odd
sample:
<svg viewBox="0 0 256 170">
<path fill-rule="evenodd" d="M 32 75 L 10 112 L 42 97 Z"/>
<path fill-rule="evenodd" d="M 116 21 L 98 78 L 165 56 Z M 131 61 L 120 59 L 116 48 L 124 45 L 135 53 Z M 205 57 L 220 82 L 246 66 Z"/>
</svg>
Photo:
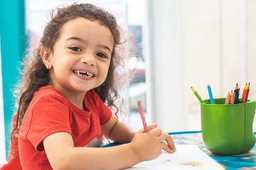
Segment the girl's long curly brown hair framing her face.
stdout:
<svg viewBox="0 0 256 170">
<path fill-rule="evenodd" d="M 120 57 L 117 54 L 117 45 L 120 45 L 120 31 L 117 26 L 117 21 L 112 14 L 107 11 L 94 6 L 92 4 L 72 4 L 64 8 L 57 8 L 57 12 L 52 14 L 52 19 L 46 26 L 43 32 L 39 46 L 34 50 L 33 57 L 24 60 L 23 74 L 20 84 L 18 84 L 18 97 L 16 100 L 17 106 L 17 119 L 16 127 L 13 132 L 18 134 L 21 120 L 28 108 L 29 103 L 33 98 L 33 94 L 41 86 L 47 86 L 50 82 L 49 70 L 43 64 L 41 58 L 41 48 L 46 47 L 53 51 L 53 45 L 60 34 L 60 28 L 64 23 L 71 19 L 82 17 L 90 21 L 98 21 L 103 26 L 110 29 L 114 38 L 114 50 L 110 61 L 110 67 L 107 73 L 107 78 L 102 85 L 98 86 L 95 91 L 104 101 L 107 106 L 114 107 L 117 115 L 118 108 L 114 105 L 114 101 L 118 98 L 119 94 L 114 86 L 114 72 L 115 68 L 120 62 Z"/>
</svg>

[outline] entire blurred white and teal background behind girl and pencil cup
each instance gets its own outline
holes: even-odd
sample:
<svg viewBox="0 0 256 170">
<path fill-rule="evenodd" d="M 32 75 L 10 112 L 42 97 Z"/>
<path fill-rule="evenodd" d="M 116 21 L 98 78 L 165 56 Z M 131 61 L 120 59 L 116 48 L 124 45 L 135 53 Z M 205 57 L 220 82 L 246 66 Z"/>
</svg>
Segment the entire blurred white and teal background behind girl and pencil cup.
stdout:
<svg viewBox="0 0 256 170">
<path fill-rule="evenodd" d="M 68 4 L 91 3 L 117 18 L 132 45 L 125 56 L 127 74 L 134 79 L 122 88 L 125 121 L 142 128 L 137 101 L 142 101 L 148 124 L 166 132 L 201 130 L 200 103 L 225 97 L 250 82 L 256 99 L 256 1 L 254 0 L 1 0 L 0 4 L 0 161 L 9 150 L 12 91 L 18 63 L 27 47 L 34 48 L 50 20 L 50 11 Z M 253 124 L 256 130 L 256 123 Z"/>
</svg>

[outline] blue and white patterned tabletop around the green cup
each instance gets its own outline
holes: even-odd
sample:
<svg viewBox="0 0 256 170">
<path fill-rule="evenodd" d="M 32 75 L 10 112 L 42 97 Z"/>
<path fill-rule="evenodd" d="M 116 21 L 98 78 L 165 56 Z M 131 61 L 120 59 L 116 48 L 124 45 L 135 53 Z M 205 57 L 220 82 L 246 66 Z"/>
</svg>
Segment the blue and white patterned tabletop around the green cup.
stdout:
<svg viewBox="0 0 256 170">
<path fill-rule="evenodd" d="M 256 132 L 254 132 L 256 135 Z M 197 145 L 203 152 L 206 152 L 216 162 L 221 164 L 225 169 L 256 169 L 256 145 L 250 150 L 250 152 L 244 154 L 236 154 L 232 156 L 216 155 L 206 149 L 203 144 L 203 137 L 201 131 L 191 132 L 171 132 L 169 133 L 174 138 L 176 145 L 193 144 Z M 103 147 L 112 147 L 118 145 L 117 142 L 112 142 Z"/>
</svg>

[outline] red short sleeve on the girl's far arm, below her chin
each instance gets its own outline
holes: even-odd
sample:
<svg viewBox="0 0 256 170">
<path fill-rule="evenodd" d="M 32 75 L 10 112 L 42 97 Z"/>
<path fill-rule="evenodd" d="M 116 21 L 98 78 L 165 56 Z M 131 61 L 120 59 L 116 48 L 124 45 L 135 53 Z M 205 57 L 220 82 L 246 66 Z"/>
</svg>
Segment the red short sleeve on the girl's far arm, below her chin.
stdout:
<svg viewBox="0 0 256 170">
<path fill-rule="evenodd" d="M 112 111 L 110 111 L 110 108 L 108 108 L 105 105 L 105 103 L 102 101 L 100 96 L 98 96 L 98 94 L 95 91 L 94 91 L 94 94 L 95 94 L 95 99 L 97 101 L 97 111 L 100 118 L 100 125 L 104 125 L 110 120 L 112 116 Z"/>
</svg>

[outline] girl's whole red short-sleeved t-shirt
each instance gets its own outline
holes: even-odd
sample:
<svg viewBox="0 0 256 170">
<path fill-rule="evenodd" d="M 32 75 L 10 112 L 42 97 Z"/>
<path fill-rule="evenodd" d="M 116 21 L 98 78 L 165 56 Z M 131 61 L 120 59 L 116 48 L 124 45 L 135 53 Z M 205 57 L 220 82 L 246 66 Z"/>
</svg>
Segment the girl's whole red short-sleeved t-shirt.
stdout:
<svg viewBox="0 0 256 170">
<path fill-rule="evenodd" d="M 43 148 L 43 140 L 50 134 L 70 133 L 75 147 L 84 147 L 102 137 L 100 125 L 110 120 L 110 109 L 93 90 L 87 91 L 84 106 L 86 111 L 74 106 L 49 86 L 41 87 L 34 94 L 18 136 L 23 169 L 52 169 Z"/>
</svg>

